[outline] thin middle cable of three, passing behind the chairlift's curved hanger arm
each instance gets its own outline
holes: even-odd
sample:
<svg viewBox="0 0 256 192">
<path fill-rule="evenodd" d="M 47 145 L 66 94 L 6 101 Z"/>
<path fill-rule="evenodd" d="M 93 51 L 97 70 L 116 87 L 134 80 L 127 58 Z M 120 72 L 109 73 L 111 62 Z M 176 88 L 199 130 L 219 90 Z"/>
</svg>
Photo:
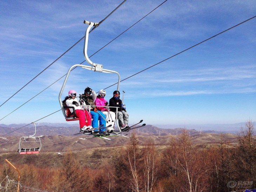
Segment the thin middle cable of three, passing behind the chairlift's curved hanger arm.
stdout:
<svg viewBox="0 0 256 192">
<path fill-rule="evenodd" d="M 98 53 L 101 49 L 105 48 L 108 44 L 110 44 L 111 42 L 113 42 L 115 39 L 117 39 L 119 36 L 121 36 L 123 33 L 127 32 L 127 30 L 129 30 L 130 28 L 132 28 L 134 25 L 136 25 L 138 22 L 140 22 L 142 19 L 144 19 L 146 16 L 148 16 L 150 13 L 152 13 L 153 11 L 155 11 L 157 8 L 159 8 L 161 5 L 163 5 L 167 0 L 165 0 L 164 2 L 162 2 L 159 6 L 157 6 L 156 8 L 154 8 L 152 11 L 150 11 L 148 14 L 146 14 L 145 16 L 143 16 L 139 21 L 135 22 L 132 26 L 130 26 L 129 28 L 127 28 L 126 30 L 124 30 L 121 34 L 117 35 L 113 40 L 109 41 L 105 46 L 103 46 L 102 48 L 100 48 L 99 50 L 97 50 L 94 54 L 92 54 L 90 57 L 92 57 L 93 55 L 95 55 L 96 53 Z M 121 5 L 121 4 L 120 4 Z M 108 16 L 107 16 L 108 17 Z M 106 18 L 107 18 L 106 17 Z M 103 21 L 103 20 L 102 20 Z M 95 26 L 97 27 L 97 26 Z M 94 27 L 94 28 L 95 28 Z M 94 29 L 93 28 L 93 29 Z M 93 30 L 92 29 L 92 30 Z M 92 31 L 90 30 L 90 32 Z M 89 32 L 89 33 L 90 33 Z M 83 61 L 85 62 L 85 60 Z M 80 64 L 82 64 L 83 62 L 81 62 Z M 76 67 L 74 67 L 75 69 Z M 74 70 L 72 69 L 72 70 Z M 62 77 L 66 76 L 67 74 L 63 75 Z M 56 80 L 54 83 L 56 83 L 57 81 L 59 81 L 62 77 L 60 77 L 58 80 Z M 45 91 L 46 89 L 48 89 L 50 86 L 52 86 L 54 83 L 52 83 L 51 85 L 49 85 L 47 88 L 45 88 L 44 90 L 42 90 L 41 92 Z M 39 92 L 37 95 L 35 95 L 34 97 L 38 96 L 39 94 L 41 94 L 41 92 Z M 29 102 L 30 100 L 32 100 L 34 97 L 32 97 L 31 99 L 29 99 L 27 102 Z M 26 104 L 27 102 L 23 103 L 20 107 L 22 107 L 24 104 Z M 20 107 L 16 108 L 15 110 L 13 110 L 12 112 L 10 112 L 8 115 L 12 114 L 14 111 L 16 111 L 17 109 L 19 109 Z M 8 115 L 6 115 L 5 117 L 7 117 Z M 0 121 L 2 119 L 4 119 L 5 117 L 1 118 Z"/>
</svg>

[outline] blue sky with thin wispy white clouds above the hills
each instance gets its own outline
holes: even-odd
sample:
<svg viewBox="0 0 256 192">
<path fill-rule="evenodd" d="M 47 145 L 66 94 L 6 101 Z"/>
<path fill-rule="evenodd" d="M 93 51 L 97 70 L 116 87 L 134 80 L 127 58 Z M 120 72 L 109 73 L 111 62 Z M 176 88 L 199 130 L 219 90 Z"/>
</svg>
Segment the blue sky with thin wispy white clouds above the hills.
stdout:
<svg viewBox="0 0 256 192">
<path fill-rule="evenodd" d="M 122 0 L 0 1 L 0 105 L 85 35 Z M 89 35 L 91 56 L 162 1 L 127 0 Z M 121 80 L 256 15 L 251 1 L 166 1 L 90 59 Z M 256 18 L 121 82 L 129 123 L 231 124 L 256 119 Z M 0 107 L 0 119 L 65 75 L 83 57 L 83 40 Z M 0 121 L 31 123 L 60 109 L 64 78 Z M 76 68 L 68 90 L 96 92 L 114 74 Z M 116 86 L 106 89 L 106 99 Z M 121 94 L 122 97 L 122 94 Z M 38 122 L 64 123 L 59 111 Z"/>
</svg>

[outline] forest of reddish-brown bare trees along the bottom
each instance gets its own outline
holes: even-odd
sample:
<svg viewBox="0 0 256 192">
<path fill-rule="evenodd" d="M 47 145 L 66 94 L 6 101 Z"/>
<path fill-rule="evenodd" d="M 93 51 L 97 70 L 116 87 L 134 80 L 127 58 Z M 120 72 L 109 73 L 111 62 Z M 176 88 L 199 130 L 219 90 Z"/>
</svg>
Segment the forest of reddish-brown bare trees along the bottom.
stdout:
<svg viewBox="0 0 256 192">
<path fill-rule="evenodd" d="M 17 168 L 22 185 L 44 191 L 223 192 L 256 188 L 252 121 L 241 128 L 237 146 L 221 138 L 216 147 L 196 148 L 184 130 L 165 150 L 158 152 L 153 142 L 141 146 L 132 134 L 129 143 L 97 169 L 81 167 L 71 151 L 65 153 L 58 169 L 33 165 L 17 165 Z M 11 167 L 2 167 L 1 181 L 6 172 L 10 178 L 17 178 Z"/>
</svg>

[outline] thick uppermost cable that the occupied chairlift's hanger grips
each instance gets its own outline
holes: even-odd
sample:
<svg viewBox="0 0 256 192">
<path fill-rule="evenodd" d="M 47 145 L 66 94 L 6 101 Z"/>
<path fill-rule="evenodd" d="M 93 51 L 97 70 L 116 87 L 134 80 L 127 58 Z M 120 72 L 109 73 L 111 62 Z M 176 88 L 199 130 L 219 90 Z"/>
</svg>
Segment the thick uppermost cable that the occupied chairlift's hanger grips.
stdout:
<svg viewBox="0 0 256 192">
<path fill-rule="evenodd" d="M 117 6 L 110 14 L 108 14 L 108 16 L 106 16 L 106 18 L 104 18 L 102 21 L 99 22 L 99 24 L 97 26 L 95 26 L 94 28 L 98 27 L 103 21 L 105 21 L 112 13 L 114 13 L 116 11 L 116 9 L 118 9 L 124 2 L 126 2 L 126 0 L 124 0 L 119 6 Z M 92 30 L 90 30 L 90 32 L 92 32 L 94 30 L 94 28 L 92 28 Z M 90 33 L 89 32 L 89 33 Z M 83 36 L 78 42 L 76 42 L 72 47 L 70 47 L 65 53 L 63 53 L 61 56 L 59 56 L 54 62 L 52 62 L 51 64 L 49 64 L 49 66 L 47 66 L 45 69 L 43 69 L 38 75 L 36 75 L 32 80 L 30 80 L 27 84 L 25 84 L 22 88 L 20 88 L 17 92 L 15 92 L 15 94 L 13 94 L 11 97 L 9 97 L 4 103 L 2 103 L 0 105 L 0 107 L 5 104 L 7 101 L 9 101 L 14 95 L 16 95 L 18 92 L 20 92 L 24 87 L 26 87 L 29 83 L 31 83 L 36 77 L 38 77 L 40 74 L 43 73 L 43 71 L 45 71 L 46 69 L 48 69 L 50 66 L 52 66 L 53 63 L 55 63 L 56 61 L 58 61 L 63 55 L 65 55 L 67 52 L 69 52 L 70 49 L 72 49 L 74 46 L 76 46 L 76 44 L 78 44 L 83 38 L 85 38 L 85 36 Z"/>
</svg>

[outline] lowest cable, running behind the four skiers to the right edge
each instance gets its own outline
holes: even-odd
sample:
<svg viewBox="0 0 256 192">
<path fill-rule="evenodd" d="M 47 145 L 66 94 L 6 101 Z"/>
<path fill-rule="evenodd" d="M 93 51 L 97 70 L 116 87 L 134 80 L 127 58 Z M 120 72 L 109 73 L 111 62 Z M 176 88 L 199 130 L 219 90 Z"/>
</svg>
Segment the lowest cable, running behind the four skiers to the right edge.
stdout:
<svg viewBox="0 0 256 192">
<path fill-rule="evenodd" d="M 147 69 L 150 69 L 151 67 L 154 67 L 154 66 L 156 66 L 156 65 L 158 65 L 158 64 L 160 64 L 160 63 L 162 63 L 162 62 L 164 62 L 164 61 L 167 61 L 168 59 L 171 59 L 171 58 L 173 58 L 173 57 L 175 57 L 175 56 L 177 56 L 177 55 L 179 55 L 179 54 L 181 54 L 181 53 L 183 53 L 183 52 L 185 52 L 185 51 L 187 51 L 187 50 L 189 50 L 189 49 L 191 49 L 191 48 L 193 48 L 193 47 L 195 47 L 195 46 L 197 46 L 197 45 L 199 45 L 199 44 L 201 44 L 201 43 L 203 43 L 203 42 L 206 42 L 206 41 L 208 41 L 208 40 L 210 40 L 210 39 L 213 39 L 214 37 L 216 37 L 216 36 L 218 36 L 218 35 L 220 35 L 220 34 L 222 34 L 222 33 L 225 33 L 225 32 L 227 32 L 228 30 L 233 29 L 233 28 L 235 28 L 235 27 L 237 27 L 237 26 L 239 26 L 239 25 L 241 25 L 241 24 L 243 24 L 243 23 L 245 23 L 245 22 L 247 22 L 247 21 L 249 21 L 249 20 L 251 20 L 251 19 L 254 19 L 254 18 L 256 18 L 256 15 L 255 15 L 254 17 L 250 18 L 250 19 L 247 19 L 247 20 L 245 20 L 245 21 L 243 21 L 243 22 L 241 22 L 241 23 L 238 23 L 237 25 L 235 25 L 235 26 L 233 26 L 233 27 L 230 27 L 230 28 L 228 28 L 228 29 L 222 31 L 221 33 L 218 33 L 218 34 L 216 34 L 216 35 L 214 35 L 214 36 L 212 36 L 212 37 L 210 37 L 210 38 L 208 38 L 208 39 L 206 39 L 206 40 L 204 40 L 204 41 L 201 41 L 200 43 L 197 43 L 197 44 L 195 44 L 194 46 L 191 46 L 191 47 L 189 47 L 189 48 L 187 48 L 187 49 L 184 49 L 183 51 L 181 51 L 181 52 L 179 52 L 179 53 L 177 53 L 177 54 L 175 54 L 175 55 L 173 55 L 173 56 L 171 56 L 171 57 L 168 57 L 168 58 L 165 59 L 165 60 L 162 60 L 162 61 L 160 61 L 160 62 L 158 62 L 158 63 L 156 63 L 156 64 L 154 64 L 154 65 L 152 65 L 152 66 L 150 66 L 150 67 L 148 67 L 148 68 L 146 68 L 146 69 L 143 69 L 143 70 L 139 71 L 138 73 L 136 73 L 136 74 L 134 74 L 134 75 L 131 75 L 131 76 L 129 76 L 129 77 L 127 77 L 127 78 L 121 80 L 120 82 L 125 81 L 125 80 L 127 80 L 128 78 L 133 77 L 133 76 L 135 76 L 135 75 L 137 75 L 137 74 L 139 74 L 139 73 L 141 73 L 141 72 L 143 72 L 143 71 L 146 71 Z M 115 84 L 117 84 L 117 83 L 115 83 Z M 115 84 L 113 84 L 113 85 L 115 85 Z M 113 85 L 110 85 L 109 87 L 112 87 Z M 109 87 L 107 87 L 107 88 L 109 88 Z M 107 89 L 107 88 L 105 88 L 105 89 Z M 61 110 L 61 109 L 60 109 L 60 110 Z M 58 111 L 60 111 L 60 110 L 58 110 Z M 56 113 L 56 112 L 58 112 L 58 111 L 55 111 L 55 112 L 53 112 L 52 114 L 54 114 L 54 113 Z M 52 114 L 50 114 L 50 115 L 52 115 Z M 47 115 L 47 116 L 45 116 L 45 117 L 48 117 L 48 116 L 50 116 L 50 115 Z M 42 117 L 41 119 L 43 119 L 43 118 L 45 118 L 45 117 Z M 39 121 L 39 120 L 41 120 L 41 119 L 38 119 L 37 121 Z M 37 121 L 34 121 L 34 122 L 37 122 Z M 34 123 L 34 122 L 32 122 L 32 123 Z M 32 124 L 32 123 L 30 123 L 30 124 Z M 28 125 L 30 125 L 30 124 L 28 124 Z M 26 125 L 26 126 L 27 126 L 27 125 Z M 23 126 L 23 127 L 25 127 L 25 126 Z M 23 127 L 21 127 L 21 128 L 23 128 Z M 21 129 L 21 128 L 19 128 L 19 129 Z M 16 129 L 16 130 L 19 130 L 19 129 Z M 14 131 L 16 131 L 16 130 L 14 130 Z M 14 131 L 11 131 L 11 132 L 9 132 L 9 133 L 12 133 L 12 132 L 14 132 Z M 9 134 L 9 133 L 6 133 L 5 135 L 7 135 L 7 134 Z M 2 135 L 2 136 L 5 136 L 5 135 Z"/>
</svg>

